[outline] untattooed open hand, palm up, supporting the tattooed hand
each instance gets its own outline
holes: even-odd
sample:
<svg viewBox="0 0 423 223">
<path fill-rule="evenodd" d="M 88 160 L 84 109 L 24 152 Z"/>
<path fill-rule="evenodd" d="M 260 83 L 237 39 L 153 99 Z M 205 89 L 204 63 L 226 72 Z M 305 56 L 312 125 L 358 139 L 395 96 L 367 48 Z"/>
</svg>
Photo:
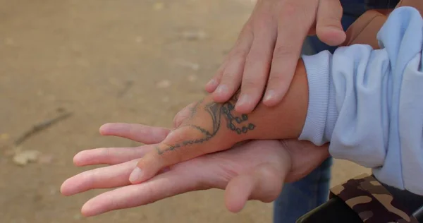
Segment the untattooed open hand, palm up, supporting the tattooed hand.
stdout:
<svg viewBox="0 0 423 223">
<path fill-rule="evenodd" d="M 75 165 L 108 164 L 67 179 L 63 195 L 74 195 L 96 188 L 116 188 L 97 195 L 82 207 L 85 216 L 136 207 L 157 200 L 209 188 L 226 188 L 226 207 L 242 210 L 247 200 L 271 202 L 281 192 L 283 181 L 307 175 L 329 156 L 327 147 L 297 140 L 262 140 L 240 144 L 231 150 L 204 155 L 182 162 L 140 184 L 128 181 L 139 158 L 166 138 L 169 130 L 137 124 L 109 123 L 102 135 L 115 135 L 140 143 L 140 147 L 98 148 L 74 157 Z"/>
</svg>

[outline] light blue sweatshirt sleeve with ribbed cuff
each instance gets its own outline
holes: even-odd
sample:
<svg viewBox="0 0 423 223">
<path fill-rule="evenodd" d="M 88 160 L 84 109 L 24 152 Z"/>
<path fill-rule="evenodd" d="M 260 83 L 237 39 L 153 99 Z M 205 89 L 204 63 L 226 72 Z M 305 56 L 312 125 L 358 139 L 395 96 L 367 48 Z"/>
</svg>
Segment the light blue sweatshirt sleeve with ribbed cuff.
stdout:
<svg viewBox="0 0 423 223">
<path fill-rule="evenodd" d="M 423 195 L 423 20 L 396 8 L 377 35 L 333 54 L 303 56 L 309 107 L 301 140 L 371 167 L 380 181 Z"/>
</svg>

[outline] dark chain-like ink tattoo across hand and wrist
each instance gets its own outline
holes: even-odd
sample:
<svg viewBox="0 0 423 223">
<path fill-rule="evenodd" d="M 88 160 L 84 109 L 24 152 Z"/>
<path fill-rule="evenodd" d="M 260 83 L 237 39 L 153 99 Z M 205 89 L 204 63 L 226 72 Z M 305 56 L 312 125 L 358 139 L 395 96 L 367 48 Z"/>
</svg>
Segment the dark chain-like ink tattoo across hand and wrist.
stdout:
<svg viewBox="0 0 423 223">
<path fill-rule="evenodd" d="M 197 102 L 197 104 L 195 104 L 195 106 L 190 109 L 191 114 L 188 119 L 192 119 L 197 114 L 198 109 L 204 109 L 210 115 L 210 118 L 212 120 L 212 129 L 207 130 L 206 128 L 197 125 L 185 126 L 188 128 L 197 129 L 202 133 L 202 137 L 193 140 L 185 140 L 182 143 L 171 145 L 169 147 L 166 147 L 165 149 L 160 149 L 159 147 L 156 147 L 157 153 L 161 155 L 164 152 L 176 150 L 179 147 L 183 147 L 185 145 L 204 143 L 204 141 L 208 141 L 218 133 L 221 127 L 222 116 L 223 119 L 225 119 L 226 121 L 226 128 L 231 129 L 231 131 L 234 131 L 237 134 L 244 134 L 248 131 L 254 130 L 256 126 L 253 123 L 247 123 L 243 125 L 243 123 L 246 123 L 248 121 L 247 114 L 242 114 L 241 116 L 236 116 L 233 114 L 233 110 L 235 109 L 235 103 L 238 101 L 238 95 L 239 91 L 228 102 L 211 102 L 209 104 L 205 104 L 204 107 L 201 107 L 202 100 L 200 102 Z"/>
</svg>

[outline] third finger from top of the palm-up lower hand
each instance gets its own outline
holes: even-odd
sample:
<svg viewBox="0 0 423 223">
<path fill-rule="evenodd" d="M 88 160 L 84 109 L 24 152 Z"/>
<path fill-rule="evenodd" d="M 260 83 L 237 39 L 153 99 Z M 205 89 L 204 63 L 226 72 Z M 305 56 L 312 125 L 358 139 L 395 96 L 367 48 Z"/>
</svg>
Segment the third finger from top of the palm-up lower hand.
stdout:
<svg viewBox="0 0 423 223">
<path fill-rule="evenodd" d="M 74 195 L 94 188 L 114 188 L 130 184 L 128 177 L 137 159 L 109 167 L 92 169 L 75 175 L 62 183 L 63 195 Z"/>
</svg>

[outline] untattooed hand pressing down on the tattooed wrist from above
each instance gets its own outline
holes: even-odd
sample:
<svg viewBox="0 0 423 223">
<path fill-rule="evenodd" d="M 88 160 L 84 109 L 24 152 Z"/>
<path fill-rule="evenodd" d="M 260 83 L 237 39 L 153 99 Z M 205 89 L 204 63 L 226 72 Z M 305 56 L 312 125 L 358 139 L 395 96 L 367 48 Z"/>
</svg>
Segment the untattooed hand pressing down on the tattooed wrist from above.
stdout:
<svg viewBox="0 0 423 223">
<path fill-rule="evenodd" d="M 240 88 L 235 109 L 250 113 L 263 102 L 274 106 L 286 94 L 307 34 L 329 45 L 345 40 L 339 0 L 258 0 L 238 41 L 206 85 L 216 102 Z"/>
</svg>

